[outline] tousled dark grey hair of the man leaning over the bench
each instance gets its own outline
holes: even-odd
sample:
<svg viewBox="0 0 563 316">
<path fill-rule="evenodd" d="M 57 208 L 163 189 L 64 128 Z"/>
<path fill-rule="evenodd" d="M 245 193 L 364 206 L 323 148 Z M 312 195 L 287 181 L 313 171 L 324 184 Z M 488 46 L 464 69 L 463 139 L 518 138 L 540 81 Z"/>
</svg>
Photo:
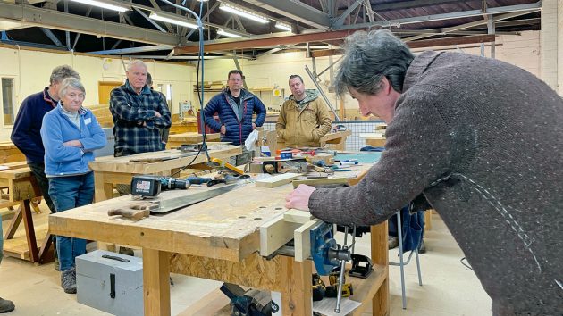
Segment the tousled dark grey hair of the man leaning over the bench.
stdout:
<svg viewBox="0 0 563 316">
<path fill-rule="evenodd" d="M 382 89 L 383 77 L 389 80 L 395 91 L 403 91 L 405 74 L 415 55 L 391 31 L 357 31 L 346 37 L 344 49 L 344 58 L 334 79 L 339 96 L 349 92 L 349 87 L 360 93 L 375 95 Z"/>
</svg>

